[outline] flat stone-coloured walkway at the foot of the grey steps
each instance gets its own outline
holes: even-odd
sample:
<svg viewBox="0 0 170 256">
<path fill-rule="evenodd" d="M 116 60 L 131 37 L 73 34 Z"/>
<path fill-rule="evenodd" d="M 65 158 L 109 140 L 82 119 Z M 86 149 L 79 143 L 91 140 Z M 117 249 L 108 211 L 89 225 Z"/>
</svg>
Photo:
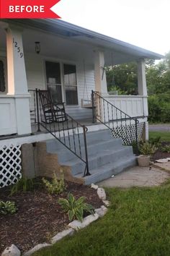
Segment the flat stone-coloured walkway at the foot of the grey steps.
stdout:
<svg viewBox="0 0 170 256">
<path fill-rule="evenodd" d="M 101 187 L 153 187 L 170 178 L 170 174 L 153 166 L 135 166 L 113 178 L 99 182 Z"/>
</svg>

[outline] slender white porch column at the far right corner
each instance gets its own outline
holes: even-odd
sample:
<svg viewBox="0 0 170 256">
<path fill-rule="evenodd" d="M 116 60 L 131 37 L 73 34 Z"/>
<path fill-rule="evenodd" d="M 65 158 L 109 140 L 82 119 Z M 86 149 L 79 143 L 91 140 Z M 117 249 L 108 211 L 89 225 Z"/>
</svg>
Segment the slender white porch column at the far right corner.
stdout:
<svg viewBox="0 0 170 256">
<path fill-rule="evenodd" d="M 138 61 L 138 95 L 143 96 L 143 116 L 148 116 L 148 93 L 146 86 L 145 61 Z M 145 123 L 145 139 L 148 140 L 148 121 Z"/>
</svg>

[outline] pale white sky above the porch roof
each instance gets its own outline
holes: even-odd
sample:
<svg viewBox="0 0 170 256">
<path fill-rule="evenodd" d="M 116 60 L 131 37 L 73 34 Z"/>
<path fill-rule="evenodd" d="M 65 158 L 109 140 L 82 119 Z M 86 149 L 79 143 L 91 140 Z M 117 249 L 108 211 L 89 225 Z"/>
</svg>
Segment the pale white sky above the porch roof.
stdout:
<svg viewBox="0 0 170 256">
<path fill-rule="evenodd" d="M 170 0 L 61 0 L 61 20 L 158 54 L 170 51 Z"/>
</svg>

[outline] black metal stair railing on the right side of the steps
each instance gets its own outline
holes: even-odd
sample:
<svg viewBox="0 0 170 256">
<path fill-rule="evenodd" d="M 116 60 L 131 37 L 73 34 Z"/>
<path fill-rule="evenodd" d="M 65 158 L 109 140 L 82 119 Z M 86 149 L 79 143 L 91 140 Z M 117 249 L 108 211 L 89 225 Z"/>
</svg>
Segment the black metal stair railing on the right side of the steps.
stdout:
<svg viewBox="0 0 170 256">
<path fill-rule="evenodd" d="M 93 122 L 101 122 L 108 127 L 112 134 L 121 137 L 125 144 L 133 143 L 133 127 L 135 126 L 135 143 L 138 148 L 138 119 L 131 117 L 104 99 L 98 92 L 91 91 Z M 127 128 L 127 129 L 125 129 Z M 131 136 L 130 136 L 131 135 Z M 132 141 L 129 141 L 129 137 Z"/>
</svg>

